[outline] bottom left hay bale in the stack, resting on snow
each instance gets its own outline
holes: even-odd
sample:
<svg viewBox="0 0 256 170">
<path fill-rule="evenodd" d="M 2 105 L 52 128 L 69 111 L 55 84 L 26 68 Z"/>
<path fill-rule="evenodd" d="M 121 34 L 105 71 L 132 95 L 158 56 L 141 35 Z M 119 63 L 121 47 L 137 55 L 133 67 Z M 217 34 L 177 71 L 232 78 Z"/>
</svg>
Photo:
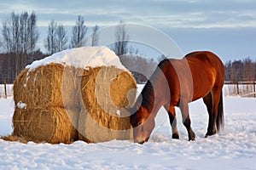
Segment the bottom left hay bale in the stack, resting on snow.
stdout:
<svg viewBox="0 0 256 170">
<path fill-rule="evenodd" d="M 51 144 L 72 143 L 77 140 L 78 111 L 58 107 L 15 108 L 12 136 L 33 142 Z"/>
</svg>

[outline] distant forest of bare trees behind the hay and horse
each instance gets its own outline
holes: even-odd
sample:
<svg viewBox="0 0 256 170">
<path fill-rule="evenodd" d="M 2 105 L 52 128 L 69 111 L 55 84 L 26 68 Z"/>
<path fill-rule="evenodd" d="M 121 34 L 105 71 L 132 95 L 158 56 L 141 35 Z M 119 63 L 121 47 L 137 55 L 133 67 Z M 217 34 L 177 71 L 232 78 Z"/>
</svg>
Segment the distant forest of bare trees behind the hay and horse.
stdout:
<svg viewBox="0 0 256 170">
<path fill-rule="evenodd" d="M 99 26 L 96 25 L 91 28 L 92 34 L 88 39 L 89 27 L 85 25 L 84 18 L 79 15 L 74 22 L 70 37 L 67 35 L 65 26 L 55 20 L 49 21 L 47 37 L 43 37 L 44 48 L 46 49 L 46 52 L 43 53 L 38 48 L 40 32 L 38 31 L 37 20 L 37 15 L 34 12 L 32 14 L 27 12 L 15 14 L 12 12 L 8 18 L 3 19 L 2 30 L 0 31 L 0 84 L 13 83 L 20 71 L 34 60 L 43 59 L 67 48 L 98 45 Z M 146 59 L 137 48 L 129 45 L 129 34 L 122 21 L 120 21 L 120 25 L 116 26 L 114 36 L 115 42 L 109 48 L 133 73 L 137 82 L 146 82 L 158 61 Z M 165 56 L 160 56 L 159 61 L 164 58 Z M 225 63 L 225 81 L 234 83 L 254 82 L 256 80 L 255 67 L 256 61 L 250 58 L 230 60 Z"/>
</svg>

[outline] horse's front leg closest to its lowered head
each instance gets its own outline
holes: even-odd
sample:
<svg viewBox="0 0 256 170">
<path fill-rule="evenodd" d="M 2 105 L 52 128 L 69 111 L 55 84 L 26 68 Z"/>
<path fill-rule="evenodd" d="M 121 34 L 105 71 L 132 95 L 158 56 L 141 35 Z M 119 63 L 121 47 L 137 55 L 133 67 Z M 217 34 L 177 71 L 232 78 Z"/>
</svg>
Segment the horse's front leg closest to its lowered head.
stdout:
<svg viewBox="0 0 256 170">
<path fill-rule="evenodd" d="M 175 107 L 174 106 L 165 106 L 166 111 L 168 111 L 168 116 L 170 120 L 170 124 L 172 127 L 172 139 L 179 139 L 179 135 L 177 132 L 177 118 L 175 113 Z"/>
</svg>

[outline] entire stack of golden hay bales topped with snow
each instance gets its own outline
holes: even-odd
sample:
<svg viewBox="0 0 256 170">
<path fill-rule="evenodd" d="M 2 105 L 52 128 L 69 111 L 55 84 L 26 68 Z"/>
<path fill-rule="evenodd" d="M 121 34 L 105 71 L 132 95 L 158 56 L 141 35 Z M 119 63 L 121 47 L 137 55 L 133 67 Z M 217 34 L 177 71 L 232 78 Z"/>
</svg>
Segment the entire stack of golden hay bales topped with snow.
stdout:
<svg viewBox="0 0 256 170">
<path fill-rule="evenodd" d="M 86 51 L 91 53 L 86 64 L 93 67 L 81 69 L 63 62 L 84 61 Z M 78 48 L 50 57 L 49 61 L 60 60 L 44 60 L 44 65 L 27 68 L 15 79 L 12 136 L 51 144 L 132 139 L 125 107 L 133 105 L 137 84 L 118 57 L 105 47 Z M 98 61 L 104 66 L 97 66 Z M 110 66 L 111 62 L 119 66 Z"/>
</svg>

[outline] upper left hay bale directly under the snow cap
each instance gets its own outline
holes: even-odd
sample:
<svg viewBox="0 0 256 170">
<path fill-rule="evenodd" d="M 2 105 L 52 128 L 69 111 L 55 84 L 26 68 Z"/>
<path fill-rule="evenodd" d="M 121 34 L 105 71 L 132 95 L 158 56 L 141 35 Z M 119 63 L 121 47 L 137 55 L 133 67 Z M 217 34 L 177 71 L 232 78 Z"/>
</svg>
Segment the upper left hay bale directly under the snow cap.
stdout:
<svg viewBox="0 0 256 170">
<path fill-rule="evenodd" d="M 21 71 L 13 87 L 15 105 L 22 102 L 28 108 L 79 107 L 77 76 L 80 71 L 73 66 L 54 63 Z"/>
</svg>

